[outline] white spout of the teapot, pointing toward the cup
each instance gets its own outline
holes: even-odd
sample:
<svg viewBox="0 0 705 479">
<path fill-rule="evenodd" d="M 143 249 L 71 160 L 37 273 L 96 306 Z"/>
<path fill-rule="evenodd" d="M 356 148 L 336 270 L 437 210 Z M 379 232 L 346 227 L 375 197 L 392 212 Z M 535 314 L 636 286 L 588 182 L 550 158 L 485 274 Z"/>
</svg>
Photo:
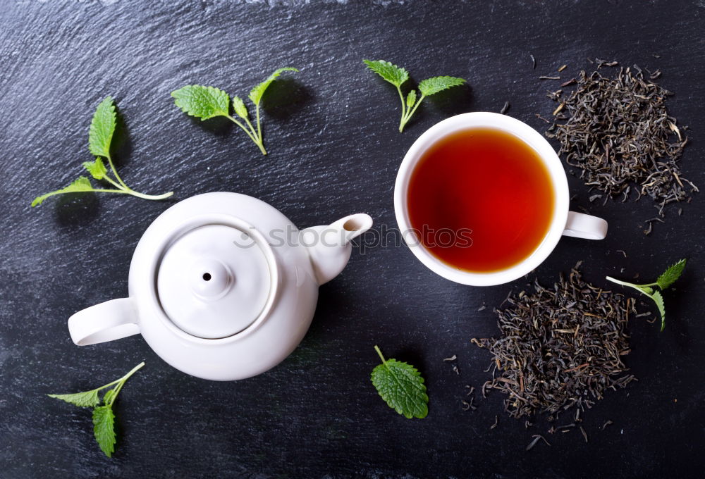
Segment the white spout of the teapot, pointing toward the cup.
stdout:
<svg viewBox="0 0 705 479">
<path fill-rule="evenodd" d="M 372 228 L 372 218 L 364 213 L 345 216 L 328 226 L 312 226 L 301 232 L 319 285 L 329 282 L 348 264 L 350 242 Z"/>
</svg>

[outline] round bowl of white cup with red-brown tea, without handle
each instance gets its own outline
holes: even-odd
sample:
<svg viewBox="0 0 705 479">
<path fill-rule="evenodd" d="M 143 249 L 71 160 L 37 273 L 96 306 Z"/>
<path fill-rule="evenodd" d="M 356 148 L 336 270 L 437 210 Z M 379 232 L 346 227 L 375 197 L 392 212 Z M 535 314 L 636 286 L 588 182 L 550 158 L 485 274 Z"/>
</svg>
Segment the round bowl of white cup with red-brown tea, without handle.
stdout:
<svg viewBox="0 0 705 479">
<path fill-rule="evenodd" d="M 568 182 L 531 127 L 466 113 L 417 139 L 399 170 L 395 209 L 426 266 L 463 284 L 496 285 L 553 250 L 568 216 Z"/>
</svg>

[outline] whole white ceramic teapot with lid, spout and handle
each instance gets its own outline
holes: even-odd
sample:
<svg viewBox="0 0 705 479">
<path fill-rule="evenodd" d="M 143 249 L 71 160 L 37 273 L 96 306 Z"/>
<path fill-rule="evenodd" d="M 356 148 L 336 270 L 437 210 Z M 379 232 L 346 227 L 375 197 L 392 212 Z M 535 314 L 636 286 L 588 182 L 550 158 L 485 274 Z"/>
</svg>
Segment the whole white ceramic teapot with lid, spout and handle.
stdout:
<svg viewBox="0 0 705 479">
<path fill-rule="evenodd" d="M 137 244 L 129 297 L 68 319 L 80 346 L 142 333 L 171 366 L 237 380 L 267 371 L 299 344 L 319 285 L 341 273 L 366 214 L 298 230 L 244 194 L 200 194 L 164 211 Z"/>
</svg>

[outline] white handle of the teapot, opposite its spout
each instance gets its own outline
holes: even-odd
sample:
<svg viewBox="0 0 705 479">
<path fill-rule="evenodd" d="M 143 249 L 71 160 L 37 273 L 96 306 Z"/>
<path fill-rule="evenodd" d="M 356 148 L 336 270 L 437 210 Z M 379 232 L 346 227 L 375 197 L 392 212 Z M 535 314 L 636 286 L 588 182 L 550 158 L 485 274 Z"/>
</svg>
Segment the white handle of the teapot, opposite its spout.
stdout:
<svg viewBox="0 0 705 479">
<path fill-rule="evenodd" d="M 135 304 L 130 298 L 111 299 L 78 311 L 68 318 L 68 332 L 78 346 L 136 335 L 140 325 Z"/>
</svg>

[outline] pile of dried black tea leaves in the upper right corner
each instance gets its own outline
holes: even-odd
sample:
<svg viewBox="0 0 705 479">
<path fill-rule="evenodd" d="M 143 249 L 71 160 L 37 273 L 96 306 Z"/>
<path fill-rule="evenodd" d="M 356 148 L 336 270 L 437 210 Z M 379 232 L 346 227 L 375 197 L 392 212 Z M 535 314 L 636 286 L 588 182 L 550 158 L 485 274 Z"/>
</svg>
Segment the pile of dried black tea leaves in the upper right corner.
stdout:
<svg viewBox="0 0 705 479">
<path fill-rule="evenodd" d="M 659 215 L 673 201 L 687 201 L 698 189 L 680 173 L 679 160 L 688 139 L 668 114 L 668 90 L 656 85 L 661 75 L 644 73 L 638 66 L 619 67 L 614 77 L 601 74 L 617 62 L 597 60 L 593 73 L 580 72 L 548 97 L 559 103 L 546 136 L 560 142 L 559 154 L 582 170 L 586 185 L 608 198 L 635 189 L 636 199 L 651 197 Z M 599 197 L 595 195 L 594 198 Z M 632 195 L 632 197 L 634 197 Z"/>
</svg>

